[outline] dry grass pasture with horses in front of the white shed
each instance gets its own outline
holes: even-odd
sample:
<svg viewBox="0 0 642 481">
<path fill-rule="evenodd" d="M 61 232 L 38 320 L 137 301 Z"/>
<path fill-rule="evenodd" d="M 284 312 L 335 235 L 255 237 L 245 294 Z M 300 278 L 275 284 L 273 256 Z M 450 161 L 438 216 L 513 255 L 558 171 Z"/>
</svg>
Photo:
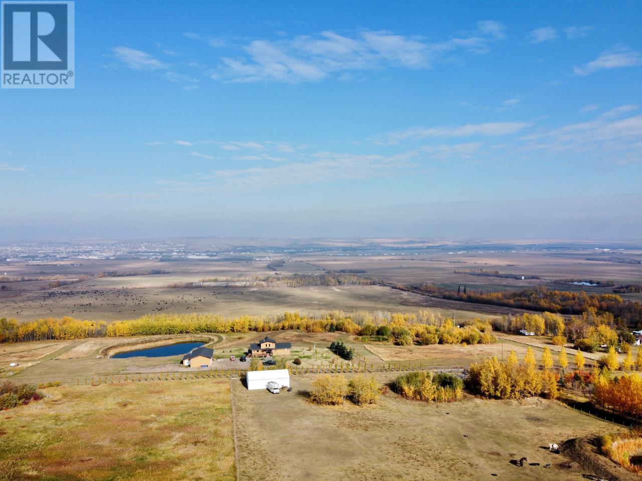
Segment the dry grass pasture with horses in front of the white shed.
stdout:
<svg viewBox="0 0 642 481">
<path fill-rule="evenodd" d="M 389 382 L 394 375 L 378 377 Z M 467 397 L 427 404 L 389 392 L 376 407 L 321 407 L 308 400 L 312 379 L 297 376 L 293 391 L 278 395 L 234 385 L 241 480 L 450 481 L 493 479 L 492 474 L 510 480 L 577 480 L 582 471 L 560 468 L 566 459 L 548 452 L 548 444 L 614 430 L 560 403 L 535 398 Z M 540 465 L 511 464 L 521 457 Z M 544 468 L 548 463 L 551 468 Z"/>
</svg>

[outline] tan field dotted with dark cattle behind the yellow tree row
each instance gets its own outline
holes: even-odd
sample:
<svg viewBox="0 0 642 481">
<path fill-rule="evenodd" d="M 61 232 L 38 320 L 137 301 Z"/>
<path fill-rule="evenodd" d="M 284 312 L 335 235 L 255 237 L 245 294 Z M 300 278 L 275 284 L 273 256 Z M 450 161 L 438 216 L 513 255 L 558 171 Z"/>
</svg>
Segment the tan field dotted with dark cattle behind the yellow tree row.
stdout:
<svg viewBox="0 0 642 481">
<path fill-rule="evenodd" d="M 144 314 L 276 315 L 283 312 L 369 310 L 416 312 L 431 308 L 444 317 L 485 317 L 507 308 L 471 306 L 379 286 L 277 287 L 264 289 L 78 289 L 0 294 L 0 317 L 117 321 Z M 472 310 L 471 310 L 472 309 Z M 475 312 L 476 310 L 481 312 Z M 488 314 L 483 314 L 487 312 Z M 512 310 L 517 312 L 517 310 Z"/>
</svg>

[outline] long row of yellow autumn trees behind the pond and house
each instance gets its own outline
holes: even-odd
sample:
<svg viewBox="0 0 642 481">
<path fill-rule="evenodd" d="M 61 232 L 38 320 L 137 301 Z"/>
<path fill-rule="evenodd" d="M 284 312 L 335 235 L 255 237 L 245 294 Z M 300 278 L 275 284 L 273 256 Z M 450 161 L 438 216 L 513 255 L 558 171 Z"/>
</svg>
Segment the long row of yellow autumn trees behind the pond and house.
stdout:
<svg viewBox="0 0 642 481">
<path fill-rule="evenodd" d="M 381 333 L 398 344 L 417 342 L 449 344 L 453 342 L 495 342 L 492 328 L 483 321 L 471 321 L 458 328 L 453 321 L 434 316 L 431 312 L 389 314 L 367 312 L 302 315 L 285 312 L 280 316 L 223 317 L 214 314 L 152 314 L 137 319 L 114 321 L 81 321 L 73 317 L 49 317 L 19 323 L 16 319 L 0 319 L 0 342 L 45 341 L 48 339 L 83 339 L 87 337 L 130 337 L 139 335 L 184 333 L 270 332 L 304 330 L 369 335 Z"/>
</svg>

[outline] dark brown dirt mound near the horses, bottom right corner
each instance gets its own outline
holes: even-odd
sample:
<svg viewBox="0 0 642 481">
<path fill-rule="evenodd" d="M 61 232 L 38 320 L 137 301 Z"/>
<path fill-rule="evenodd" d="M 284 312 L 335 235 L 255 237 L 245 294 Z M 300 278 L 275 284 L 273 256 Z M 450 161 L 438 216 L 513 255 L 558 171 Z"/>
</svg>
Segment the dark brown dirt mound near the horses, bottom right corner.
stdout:
<svg viewBox="0 0 642 481">
<path fill-rule="evenodd" d="M 640 478 L 600 454 L 595 439 L 576 437 L 562 444 L 560 452 L 582 469 L 607 480 L 640 481 Z M 572 464 L 572 463 L 571 463 Z"/>
</svg>

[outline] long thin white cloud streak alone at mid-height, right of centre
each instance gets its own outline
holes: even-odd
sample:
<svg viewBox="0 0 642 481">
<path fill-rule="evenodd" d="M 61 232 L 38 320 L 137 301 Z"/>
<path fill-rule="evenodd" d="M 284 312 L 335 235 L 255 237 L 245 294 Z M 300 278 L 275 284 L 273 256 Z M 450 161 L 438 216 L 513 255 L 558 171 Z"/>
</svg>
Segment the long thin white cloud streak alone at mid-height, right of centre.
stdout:
<svg viewBox="0 0 642 481">
<path fill-rule="evenodd" d="M 413 127 L 406 130 L 388 132 L 376 144 L 392 145 L 401 140 L 426 139 L 427 137 L 498 137 L 523 130 L 530 122 L 485 122 L 462 126 Z"/>
</svg>

